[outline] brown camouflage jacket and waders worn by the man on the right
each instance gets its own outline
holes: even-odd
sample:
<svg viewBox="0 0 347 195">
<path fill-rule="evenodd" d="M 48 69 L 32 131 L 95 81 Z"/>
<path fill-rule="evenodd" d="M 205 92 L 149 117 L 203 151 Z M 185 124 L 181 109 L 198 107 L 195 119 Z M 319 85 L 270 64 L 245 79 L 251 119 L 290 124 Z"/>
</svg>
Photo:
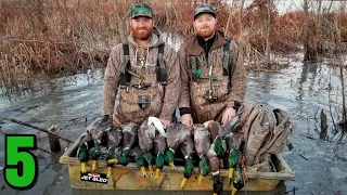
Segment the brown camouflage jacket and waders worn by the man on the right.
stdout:
<svg viewBox="0 0 347 195">
<path fill-rule="evenodd" d="M 227 43 L 221 31 L 216 31 L 215 41 L 206 60 L 204 49 L 198 44 L 196 36 L 188 38 L 179 50 L 181 66 L 182 90 L 179 107 L 191 109 L 194 122 L 207 120 L 220 120 L 222 113 L 228 107 L 240 107 L 246 92 L 246 73 L 243 65 L 243 56 L 234 41 L 230 43 L 230 77 L 223 76 L 223 46 Z M 197 56 L 197 64 L 203 76 L 208 76 L 209 65 L 213 64 L 213 76 L 217 80 L 213 82 L 217 100 L 205 98 L 210 89 L 208 79 L 192 80 L 191 56 Z M 208 62 L 207 62 L 208 61 Z"/>
</svg>

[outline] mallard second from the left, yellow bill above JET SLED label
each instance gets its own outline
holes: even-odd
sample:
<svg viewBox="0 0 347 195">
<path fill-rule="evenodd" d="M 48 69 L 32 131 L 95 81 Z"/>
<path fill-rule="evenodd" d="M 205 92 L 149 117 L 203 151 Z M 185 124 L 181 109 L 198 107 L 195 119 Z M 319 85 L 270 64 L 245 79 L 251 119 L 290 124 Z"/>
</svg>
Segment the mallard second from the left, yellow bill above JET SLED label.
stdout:
<svg viewBox="0 0 347 195">
<path fill-rule="evenodd" d="M 87 132 L 91 134 L 94 141 L 94 148 L 91 153 L 91 157 L 93 159 L 92 171 L 97 170 L 101 145 L 106 145 L 106 130 L 110 130 L 112 127 L 113 121 L 110 115 L 103 115 L 101 118 L 97 118 L 90 126 L 87 127 Z"/>
</svg>

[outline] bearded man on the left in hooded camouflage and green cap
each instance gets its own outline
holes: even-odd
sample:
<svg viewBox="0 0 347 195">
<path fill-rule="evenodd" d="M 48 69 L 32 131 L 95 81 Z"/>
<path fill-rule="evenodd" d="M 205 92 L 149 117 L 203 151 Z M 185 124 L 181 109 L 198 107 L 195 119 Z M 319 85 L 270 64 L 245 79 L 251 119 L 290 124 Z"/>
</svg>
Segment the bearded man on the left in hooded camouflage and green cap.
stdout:
<svg viewBox="0 0 347 195">
<path fill-rule="evenodd" d="M 164 44 L 154 27 L 150 5 L 131 9 L 131 32 L 126 43 L 113 48 L 104 76 L 103 115 L 114 114 L 119 87 L 119 103 L 113 119 L 118 125 L 142 123 L 150 116 L 170 126 L 181 88 L 177 52 Z"/>
</svg>

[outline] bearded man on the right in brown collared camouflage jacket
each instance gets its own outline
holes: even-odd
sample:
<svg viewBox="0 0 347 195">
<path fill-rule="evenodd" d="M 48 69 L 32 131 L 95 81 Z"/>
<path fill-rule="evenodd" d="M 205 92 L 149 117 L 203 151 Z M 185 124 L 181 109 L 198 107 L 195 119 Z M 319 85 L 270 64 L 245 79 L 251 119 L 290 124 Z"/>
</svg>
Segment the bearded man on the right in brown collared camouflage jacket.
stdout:
<svg viewBox="0 0 347 195">
<path fill-rule="evenodd" d="M 210 5 L 195 9 L 194 30 L 179 50 L 181 121 L 218 120 L 226 125 L 236 115 L 246 91 L 242 53 L 233 40 L 217 30 L 216 11 Z"/>
</svg>

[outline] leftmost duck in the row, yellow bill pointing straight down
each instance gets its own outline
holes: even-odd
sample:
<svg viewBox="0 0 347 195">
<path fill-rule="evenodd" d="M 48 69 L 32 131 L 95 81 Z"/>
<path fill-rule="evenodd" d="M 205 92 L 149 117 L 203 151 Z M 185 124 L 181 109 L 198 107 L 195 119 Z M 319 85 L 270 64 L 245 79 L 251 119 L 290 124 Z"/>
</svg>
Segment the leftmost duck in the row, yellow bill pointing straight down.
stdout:
<svg viewBox="0 0 347 195">
<path fill-rule="evenodd" d="M 79 146 L 77 150 L 77 157 L 81 164 L 81 172 L 87 172 L 87 161 L 89 159 L 88 148 L 93 146 L 93 140 L 89 133 L 83 133 L 80 136 Z"/>
</svg>

